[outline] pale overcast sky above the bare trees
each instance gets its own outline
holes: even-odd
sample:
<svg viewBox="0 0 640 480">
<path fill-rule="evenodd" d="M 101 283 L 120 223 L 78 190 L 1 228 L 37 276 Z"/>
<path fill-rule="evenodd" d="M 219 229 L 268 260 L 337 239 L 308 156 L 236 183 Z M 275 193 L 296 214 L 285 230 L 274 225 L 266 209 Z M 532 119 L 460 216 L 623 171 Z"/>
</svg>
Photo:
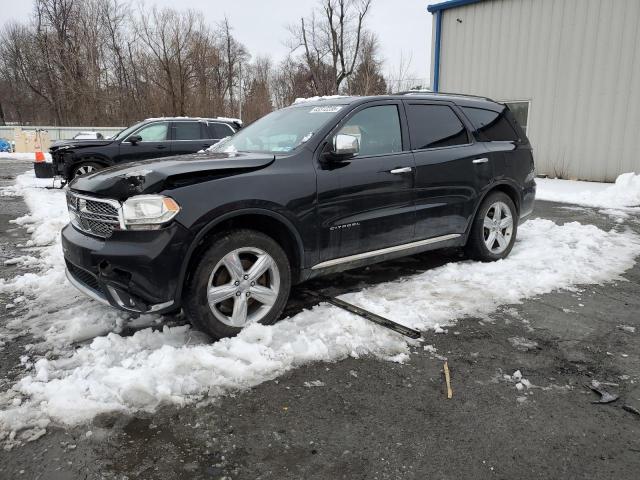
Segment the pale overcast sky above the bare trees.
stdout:
<svg viewBox="0 0 640 480">
<path fill-rule="evenodd" d="M 385 71 L 397 77 L 401 57 L 411 60 L 408 76 L 428 85 L 431 51 L 431 14 L 427 0 L 373 0 L 368 28 L 378 34 Z M 270 55 L 278 61 L 288 52 L 287 26 L 308 15 L 316 0 L 146 0 L 147 6 L 195 9 L 207 22 L 229 18 L 234 35 L 252 55 Z M 2 19 L 26 21 L 32 10 L 30 0 L 0 0 Z"/>
</svg>

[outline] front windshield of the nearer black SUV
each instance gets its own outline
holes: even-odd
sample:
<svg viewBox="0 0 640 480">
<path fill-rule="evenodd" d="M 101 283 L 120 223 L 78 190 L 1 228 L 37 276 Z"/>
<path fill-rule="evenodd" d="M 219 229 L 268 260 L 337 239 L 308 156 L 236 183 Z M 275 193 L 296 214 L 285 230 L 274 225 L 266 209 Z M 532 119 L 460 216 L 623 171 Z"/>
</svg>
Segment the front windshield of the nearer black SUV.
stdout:
<svg viewBox="0 0 640 480">
<path fill-rule="evenodd" d="M 214 152 L 286 153 L 302 145 L 344 105 L 289 107 L 262 117 L 210 148 Z"/>
</svg>

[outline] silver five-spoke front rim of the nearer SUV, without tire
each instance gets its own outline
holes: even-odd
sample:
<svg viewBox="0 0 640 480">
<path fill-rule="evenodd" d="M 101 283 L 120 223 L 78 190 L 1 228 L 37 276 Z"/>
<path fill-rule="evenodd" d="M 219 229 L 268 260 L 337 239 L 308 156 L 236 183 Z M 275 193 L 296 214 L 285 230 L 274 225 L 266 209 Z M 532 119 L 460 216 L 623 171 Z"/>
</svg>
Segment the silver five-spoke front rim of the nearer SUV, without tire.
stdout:
<svg viewBox="0 0 640 480">
<path fill-rule="evenodd" d="M 280 272 L 259 248 L 239 248 L 216 264 L 207 283 L 209 308 L 225 325 L 242 328 L 264 318 L 278 298 Z"/>
</svg>

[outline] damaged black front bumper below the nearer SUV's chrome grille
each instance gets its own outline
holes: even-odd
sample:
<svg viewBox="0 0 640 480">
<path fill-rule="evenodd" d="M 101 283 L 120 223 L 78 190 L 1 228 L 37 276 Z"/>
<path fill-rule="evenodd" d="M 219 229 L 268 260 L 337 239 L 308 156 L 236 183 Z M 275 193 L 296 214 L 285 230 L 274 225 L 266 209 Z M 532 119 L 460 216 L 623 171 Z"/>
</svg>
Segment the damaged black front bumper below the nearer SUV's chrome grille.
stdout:
<svg viewBox="0 0 640 480">
<path fill-rule="evenodd" d="M 85 295 L 133 313 L 179 308 L 191 233 L 178 222 L 155 231 L 114 232 L 108 239 L 68 224 L 61 236 L 67 278 Z"/>
</svg>

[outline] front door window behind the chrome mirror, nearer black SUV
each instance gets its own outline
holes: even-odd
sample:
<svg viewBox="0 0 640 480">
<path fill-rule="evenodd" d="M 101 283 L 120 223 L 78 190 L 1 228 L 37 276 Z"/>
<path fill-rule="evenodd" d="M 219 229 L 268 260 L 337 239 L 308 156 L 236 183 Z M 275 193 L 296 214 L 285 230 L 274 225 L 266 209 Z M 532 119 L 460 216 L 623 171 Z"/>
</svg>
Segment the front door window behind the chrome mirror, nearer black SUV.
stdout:
<svg viewBox="0 0 640 480">
<path fill-rule="evenodd" d="M 358 138 L 360 156 L 402 151 L 400 117 L 396 105 L 365 108 L 351 117 L 338 133 Z"/>
</svg>

